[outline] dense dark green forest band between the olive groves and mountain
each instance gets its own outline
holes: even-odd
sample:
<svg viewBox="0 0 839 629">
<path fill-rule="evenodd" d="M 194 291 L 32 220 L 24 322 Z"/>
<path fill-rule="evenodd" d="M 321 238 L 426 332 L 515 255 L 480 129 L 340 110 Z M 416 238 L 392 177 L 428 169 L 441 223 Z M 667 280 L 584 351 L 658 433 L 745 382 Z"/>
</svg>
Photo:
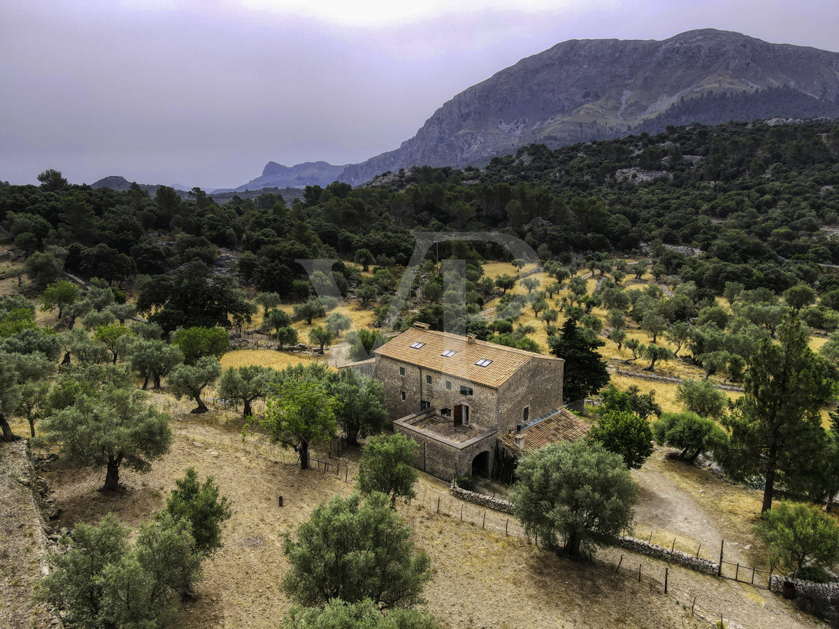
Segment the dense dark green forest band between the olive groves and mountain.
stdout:
<svg viewBox="0 0 839 629">
<path fill-rule="evenodd" d="M 524 238 L 540 257 L 685 245 L 706 255 L 657 250 L 668 273 L 716 291 L 732 280 L 781 291 L 816 283 L 819 263 L 839 263 L 825 228 L 839 223 L 837 160 L 839 125 L 829 120 L 697 124 L 555 151 L 533 145 L 485 169 L 310 186 L 290 207 L 273 193 L 218 205 L 200 190 L 181 200 L 166 187 L 150 197 L 60 178 L 2 185 L 0 221 L 26 255 L 46 252 L 71 273 L 116 283 L 211 267 L 221 247 L 243 282 L 289 295 L 305 277 L 295 259 L 366 249 L 404 265 L 411 230 L 491 229 Z M 492 247 L 477 246 L 487 258 L 506 255 Z"/>
</svg>

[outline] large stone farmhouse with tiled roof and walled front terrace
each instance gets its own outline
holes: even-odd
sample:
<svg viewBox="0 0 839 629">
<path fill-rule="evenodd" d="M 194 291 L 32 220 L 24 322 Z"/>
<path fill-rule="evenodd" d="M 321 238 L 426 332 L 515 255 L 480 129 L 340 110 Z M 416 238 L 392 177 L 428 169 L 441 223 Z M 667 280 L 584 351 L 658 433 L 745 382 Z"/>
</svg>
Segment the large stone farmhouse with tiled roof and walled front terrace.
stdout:
<svg viewBox="0 0 839 629">
<path fill-rule="evenodd" d="M 560 358 L 429 330 L 422 323 L 374 355 L 365 371 L 372 367 L 373 377 L 383 382 L 393 431 L 417 441 L 415 465 L 443 480 L 491 476 L 499 439 L 512 439 L 507 450 L 515 455 L 517 443 L 528 449 L 522 439 L 534 426 L 550 433 L 558 419 L 565 426 L 575 423 L 569 416 L 576 415 L 561 408 L 565 361 Z M 587 424 L 577 424 L 571 434 L 584 434 Z"/>
</svg>

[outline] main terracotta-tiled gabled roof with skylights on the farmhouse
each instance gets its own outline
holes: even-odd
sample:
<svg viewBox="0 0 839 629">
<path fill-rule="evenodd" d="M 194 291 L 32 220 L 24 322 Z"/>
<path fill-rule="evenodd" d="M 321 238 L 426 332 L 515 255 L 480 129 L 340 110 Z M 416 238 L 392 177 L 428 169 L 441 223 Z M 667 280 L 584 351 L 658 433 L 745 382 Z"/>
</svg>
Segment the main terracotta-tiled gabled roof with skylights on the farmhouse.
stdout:
<svg viewBox="0 0 839 629">
<path fill-rule="evenodd" d="M 529 361 L 561 360 L 485 340 L 472 339 L 470 342 L 466 336 L 428 330 L 419 325 L 422 324 L 388 340 L 374 353 L 492 388 L 500 387 Z"/>
</svg>

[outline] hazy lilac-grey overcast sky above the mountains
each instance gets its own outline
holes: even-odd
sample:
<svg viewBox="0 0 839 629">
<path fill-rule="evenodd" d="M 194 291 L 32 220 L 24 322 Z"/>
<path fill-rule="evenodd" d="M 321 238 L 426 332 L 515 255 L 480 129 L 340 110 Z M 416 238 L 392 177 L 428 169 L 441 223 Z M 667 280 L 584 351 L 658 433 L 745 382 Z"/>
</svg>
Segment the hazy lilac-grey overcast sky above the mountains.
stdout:
<svg viewBox="0 0 839 629">
<path fill-rule="evenodd" d="M 0 180 L 236 186 L 360 162 L 565 39 L 737 30 L 839 50 L 811 0 L 25 0 L 0 9 Z"/>
</svg>

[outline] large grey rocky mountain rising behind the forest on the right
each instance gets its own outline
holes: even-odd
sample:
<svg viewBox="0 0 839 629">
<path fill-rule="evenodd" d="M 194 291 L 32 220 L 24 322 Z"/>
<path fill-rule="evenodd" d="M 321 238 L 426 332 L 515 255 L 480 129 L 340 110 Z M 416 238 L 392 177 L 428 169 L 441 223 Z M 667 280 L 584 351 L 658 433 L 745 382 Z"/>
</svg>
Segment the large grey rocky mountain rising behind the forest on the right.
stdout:
<svg viewBox="0 0 839 629">
<path fill-rule="evenodd" d="M 414 165 L 486 163 L 534 142 L 557 147 L 616 138 L 650 120 L 663 130 L 675 121 L 661 114 L 673 107 L 680 107 L 680 117 L 708 123 L 772 117 L 766 112 L 775 102 L 784 105 L 785 116 L 839 115 L 837 71 L 839 53 L 714 29 L 664 41 L 571 39 L 462 91 L 414 138 L 347 166 L 341 180 L 359 185 Z M 768 99 L 773 90 L 784 97 Z M 722 92 L 742 96 L 736 111 L 707 102 L 698 111 L 714 109 L 723 120 L 700 120 L 696 108 L 685 106 Z"/>
</svg>

